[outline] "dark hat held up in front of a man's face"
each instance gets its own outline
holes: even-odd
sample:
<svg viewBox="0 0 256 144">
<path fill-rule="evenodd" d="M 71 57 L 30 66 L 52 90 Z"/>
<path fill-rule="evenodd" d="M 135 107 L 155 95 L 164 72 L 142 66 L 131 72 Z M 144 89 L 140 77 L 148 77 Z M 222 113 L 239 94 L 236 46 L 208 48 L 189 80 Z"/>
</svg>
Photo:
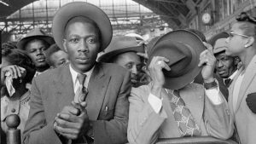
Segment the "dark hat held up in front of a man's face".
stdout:
<svg viewBox="0 0 256 144">
<path fill-rule="evenodd" d="M 200 54 L 205 50 L 201 38 L 188 30 L 176 30 L 160 37 L 148 54 L 148 62 L 154 56 L 166 57 L 171 71 L 163 69 L 166 78 L 164 88 L 181 89 L 201 72 L 198 66 Z"/>
</svg>

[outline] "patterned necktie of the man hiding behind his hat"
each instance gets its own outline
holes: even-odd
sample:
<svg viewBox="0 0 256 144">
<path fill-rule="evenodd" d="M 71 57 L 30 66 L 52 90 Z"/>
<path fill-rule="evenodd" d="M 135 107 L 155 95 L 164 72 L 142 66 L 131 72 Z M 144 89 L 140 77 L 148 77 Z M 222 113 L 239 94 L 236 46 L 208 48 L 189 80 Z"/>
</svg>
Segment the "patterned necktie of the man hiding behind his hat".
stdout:
<svg viewBox="0 0 256 144">
<path fill-rule="evenodd" d="M 177 122 L 177 126 L 179 128 L 180 134 L 182 136 L 199 136 L 201 135 L 201 130 L 199 126 L 195 122 L 195 118 L 193 118 L 189 108 L 185 106 L 183 99 L 180 97 L 177 90 L 172 93 L 167 90 L 168 95 L 172 97 L 171 107 L 172 114 Z"/>
</svg>

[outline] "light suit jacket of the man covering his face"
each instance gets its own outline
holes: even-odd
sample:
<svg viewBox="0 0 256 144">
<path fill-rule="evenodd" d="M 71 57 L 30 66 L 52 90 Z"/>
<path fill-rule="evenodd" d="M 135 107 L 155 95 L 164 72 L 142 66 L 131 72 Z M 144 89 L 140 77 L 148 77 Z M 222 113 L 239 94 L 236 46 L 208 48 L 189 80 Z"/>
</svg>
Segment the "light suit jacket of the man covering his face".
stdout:
<svg viewBox="0 0 256 144">
<path fill-rule="evenodd" d="M 149 144 L 158 138 L 181 137 L 172 114 L 172 107 L 166 90 L 162 90 L 163 105 L 160 113 L 148 103 L 151 84 L 131 89 L 128 123 L 128 141 L 137 144 Z M 205 95 L 201 84 L 189 84 L 180 89 L 180 95 L 201 128 L 201 135 L 211 135 L 219 139 L 228 139 L 233 133 L 230 110 L 227 102 L 215 106 Z"/>
</svg>

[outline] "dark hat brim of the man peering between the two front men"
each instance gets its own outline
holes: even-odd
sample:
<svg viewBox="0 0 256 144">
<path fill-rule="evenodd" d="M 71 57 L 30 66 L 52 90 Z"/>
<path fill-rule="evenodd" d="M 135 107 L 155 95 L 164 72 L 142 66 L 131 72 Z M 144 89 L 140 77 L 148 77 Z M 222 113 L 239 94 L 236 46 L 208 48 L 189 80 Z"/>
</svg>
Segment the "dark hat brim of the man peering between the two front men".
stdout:
<svg viewBox="0 0 256 144">
<path fill-rule="evenodd" d="M 111 59 L 113 59 L 114 56 L 120 55 L 126 52 L 136 52 L 136 53 L 144 53 L 144 47 L 143 45 L 136 46 L 136 47 L 130 47 L 130 48 L 124 48 L 124 49 L 116 49 L 111 52 L 108 52 L 106 54 L 103 54 L 99 57 L 98 61 L 100 62 L 110 62 Z"/>
</svg>

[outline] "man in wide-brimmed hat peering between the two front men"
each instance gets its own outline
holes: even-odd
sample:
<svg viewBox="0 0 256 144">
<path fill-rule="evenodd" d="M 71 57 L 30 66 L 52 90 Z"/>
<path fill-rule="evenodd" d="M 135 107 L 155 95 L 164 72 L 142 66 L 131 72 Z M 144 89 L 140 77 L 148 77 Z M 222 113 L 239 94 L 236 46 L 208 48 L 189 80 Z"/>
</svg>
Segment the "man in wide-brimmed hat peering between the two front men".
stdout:
<svg viewBox="0 0 256 144">
<path fill-rule="evenodd" d="M 125 67 L 131 72 L 132 87 L 138 87 L 148 84 L 148 79 L 146 73 L 143 72 L 143 57 L 137 53 L 145 52 L 143 44 L 137 43 L 136 37 L 116 36 L 98 60 Z"/>
</svg>

